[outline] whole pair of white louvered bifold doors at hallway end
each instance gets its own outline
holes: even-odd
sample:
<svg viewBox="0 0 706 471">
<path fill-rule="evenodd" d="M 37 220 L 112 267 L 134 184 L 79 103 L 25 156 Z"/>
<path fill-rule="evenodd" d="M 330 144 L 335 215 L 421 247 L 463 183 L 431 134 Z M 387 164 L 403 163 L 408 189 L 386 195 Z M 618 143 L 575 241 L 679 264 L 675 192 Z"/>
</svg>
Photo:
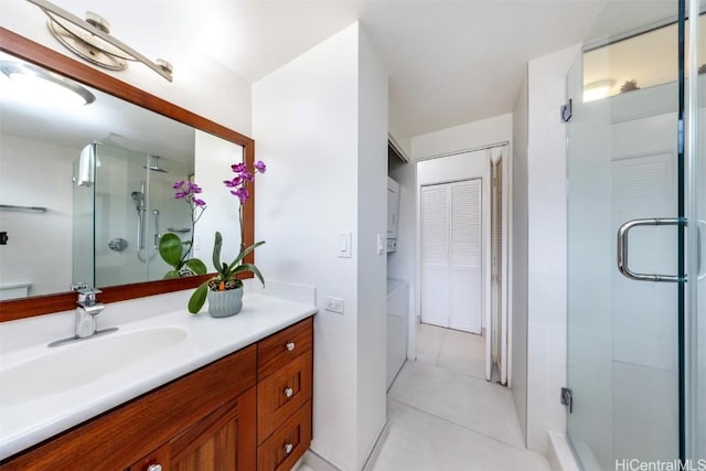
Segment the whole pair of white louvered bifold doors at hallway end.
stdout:
<svg viewBox="0 0 706 471">
<path fill-rule="evenodd" d="M 481 332 L 481 180 L 421 189 L 421 321 Z"/>
</svg>

